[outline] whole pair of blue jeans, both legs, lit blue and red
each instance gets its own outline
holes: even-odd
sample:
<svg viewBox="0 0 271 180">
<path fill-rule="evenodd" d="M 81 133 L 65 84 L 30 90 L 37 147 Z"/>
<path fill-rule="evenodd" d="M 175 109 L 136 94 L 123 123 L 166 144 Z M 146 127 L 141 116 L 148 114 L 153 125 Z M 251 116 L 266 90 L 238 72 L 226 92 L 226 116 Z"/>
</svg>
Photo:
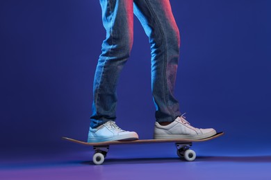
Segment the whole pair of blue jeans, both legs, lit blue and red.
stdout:
<svg viewBox="0 0 271 180">
<path fill-rule="evenodd" d="M 100 0 L 106 39 L 95 72 L 90 127 L 115 120 L 117 80 L 133 44 L 133 14 L 151 45 L 151 91 L 158 123 L 181 116 L 174 98 L 179 61 L 179 29 L 169 0 Z"/>
</svg>

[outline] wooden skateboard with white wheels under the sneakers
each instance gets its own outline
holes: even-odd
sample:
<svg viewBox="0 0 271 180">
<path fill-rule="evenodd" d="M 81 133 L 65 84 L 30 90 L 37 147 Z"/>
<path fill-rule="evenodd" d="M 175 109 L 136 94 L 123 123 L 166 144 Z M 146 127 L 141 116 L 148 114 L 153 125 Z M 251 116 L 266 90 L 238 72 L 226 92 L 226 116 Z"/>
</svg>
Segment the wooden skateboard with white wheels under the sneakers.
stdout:
<svg viewBox="0 0 271 180">
<path fill-rule="evenodd" d="M 100 165 L 104 163 L 104 159 L 109 150 L 109 145 L 142 144 L 142 143 L 170 143 L 170 142 L 175 143 L 176 149 L 177 149 L 176 153 L 180 158 L 185 159 L 186 161 L 194 161 L 196 159 L 196 153 L 195 151 L 190 150 L 192 143 L 209 141 L 213 138 L 222 136 L 223 134 L 224 132 L 219 132 L 211 137 L 197 139 L 197 140 L 176 138 L 176 139 L 141 139 L 141 140 L 133 140 L 133 141 L 106 141 L 106 142 L 101 142 L 101 143 L 87 143 L 84 141 L 78 141 L 73 138 L 63 137 L 63 139 L 74 142 L 74 143 L 79 143 L 81 145 L 93 146 L 93 149 L 95 150 L 95 154 L 92 157 L 92 161 L 96 165 Z"/>
</svg>

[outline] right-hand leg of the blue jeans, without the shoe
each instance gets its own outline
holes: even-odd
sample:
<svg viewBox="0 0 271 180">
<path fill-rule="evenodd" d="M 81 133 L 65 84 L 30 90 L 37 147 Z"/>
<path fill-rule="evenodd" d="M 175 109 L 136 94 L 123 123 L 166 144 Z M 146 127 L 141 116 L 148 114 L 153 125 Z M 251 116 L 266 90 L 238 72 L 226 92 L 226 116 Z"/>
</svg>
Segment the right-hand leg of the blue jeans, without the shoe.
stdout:
<svg viewBox="0 0 271 180">
<path fill-rule="evenodd" d="M 179 29 L 169 0 L 135 0 L 134 13 L 151 44 L 151 91 L 156 107 L 156 121 L 172 122 L 181 116 L 174 98 L 179 61 Z"/>
</svg>

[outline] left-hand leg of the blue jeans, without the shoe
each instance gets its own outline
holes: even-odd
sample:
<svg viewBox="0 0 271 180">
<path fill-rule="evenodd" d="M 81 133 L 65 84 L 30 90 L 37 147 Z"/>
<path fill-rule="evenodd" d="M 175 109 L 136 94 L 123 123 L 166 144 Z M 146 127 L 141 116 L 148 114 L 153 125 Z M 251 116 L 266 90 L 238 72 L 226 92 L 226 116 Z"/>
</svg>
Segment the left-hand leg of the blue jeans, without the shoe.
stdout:
<svg viewBox="0 0 271 180">
<path fill-rule="evenodd" d="M 106 39 L 93 83 L 92 128 L 115 120 L 117 80 L 133 44 L 133 0 L 100 0 Z"/>
</svg>

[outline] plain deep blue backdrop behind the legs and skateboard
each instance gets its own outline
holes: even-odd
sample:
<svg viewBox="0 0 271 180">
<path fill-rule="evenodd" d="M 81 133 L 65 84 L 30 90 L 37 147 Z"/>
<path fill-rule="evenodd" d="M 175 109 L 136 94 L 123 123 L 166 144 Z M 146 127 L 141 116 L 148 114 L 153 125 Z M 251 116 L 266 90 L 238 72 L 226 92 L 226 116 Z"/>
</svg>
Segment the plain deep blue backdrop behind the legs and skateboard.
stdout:
<svg viewBox="0 0 271 180">
<path fill-rule="evenodd" d="M 226 132 L 211 144 L 216 151 L 270 154 L 270 1 L 171 3 L 181 31 L 181 112 L 195 127 Z M 105 37 L 99 1 L 2 0 L 0 15 L 1 154 L 67 150 L 61 136 L 85 141 Z M 149 42 L 136 17 L 134 23 L 117 124 L 151 138 Z"/>
</svg>

